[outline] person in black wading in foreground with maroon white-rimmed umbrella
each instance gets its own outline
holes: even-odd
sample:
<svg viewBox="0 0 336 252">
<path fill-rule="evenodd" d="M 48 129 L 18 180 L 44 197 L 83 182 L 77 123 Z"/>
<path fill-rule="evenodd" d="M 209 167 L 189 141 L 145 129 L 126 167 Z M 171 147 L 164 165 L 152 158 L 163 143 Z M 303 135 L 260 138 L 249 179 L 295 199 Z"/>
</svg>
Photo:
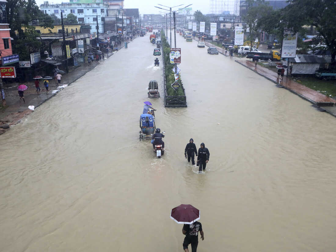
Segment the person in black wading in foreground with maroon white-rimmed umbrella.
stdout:
<svg viewBox="0 0 336 252">
<path fill-rule="evenodd" d="M 191 244 L 192 252 L 197 252 L 198 232 L 204 240 L 204 232 L 200 219 L 200 210 L 192 205 L 181 204 L 171 210 L 170 218 L 179 224 L 184 224 L 182 234 L 185 235 L 183 240 L 183 249 L 189 252 L 188 245 Z"/>
</svg>

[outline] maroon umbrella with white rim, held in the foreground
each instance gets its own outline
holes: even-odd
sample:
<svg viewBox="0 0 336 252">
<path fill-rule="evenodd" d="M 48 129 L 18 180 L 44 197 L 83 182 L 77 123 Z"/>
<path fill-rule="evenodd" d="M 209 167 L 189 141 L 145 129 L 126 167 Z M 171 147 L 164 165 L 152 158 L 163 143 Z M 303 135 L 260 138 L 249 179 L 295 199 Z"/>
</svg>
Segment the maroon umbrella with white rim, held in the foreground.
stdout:
<svg viewBox="0 0 336 252">
<path fill-rule="evenodd" d="M 170 218 L 179 224 L 193 224 L 200 219 L 200 210 L 192 205 L 181 204 L 171 210 Z"/>
</svg>

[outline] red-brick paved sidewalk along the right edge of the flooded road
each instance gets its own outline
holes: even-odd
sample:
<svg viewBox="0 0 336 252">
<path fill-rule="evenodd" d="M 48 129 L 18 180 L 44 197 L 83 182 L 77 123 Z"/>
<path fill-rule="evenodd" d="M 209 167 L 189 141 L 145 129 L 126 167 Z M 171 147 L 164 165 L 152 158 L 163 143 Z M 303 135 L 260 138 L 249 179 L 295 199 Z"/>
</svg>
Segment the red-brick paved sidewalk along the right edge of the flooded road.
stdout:
<svg viewBox="0 0 336 252">
<path fill-rule="evenodd" d="M 251 69 L 253 72 L 265 77 L 266 79 L 277 83 L 277 73 L 274 71 L 271 71 L 267 68 L 263 68 L 259 65 L 255 67 L 254 62 L 250 60 L 235 60 L 239 64 L 243 65 L 244 67 L 247 67 Z M 290 78 L 287 78 L 284 76 L 283 82 L 282 82 L 282 87 L 286 88 L 287 90 L 295 93 L 296 95 L 300 96 L 301 98 L 316 104 L 317 106 L 328 106 L 332 107 L 336 103 L 336 100 L 325 96 L 324 94 L 321 94 L 318 91 L 312 90 L 302 84 L 299 84 L 295 81 L 293 81 Z M 336 108 L 336 107 L 335 107 Z M 331 108 L 330 108 L 331 109 Z"/>
</svg>

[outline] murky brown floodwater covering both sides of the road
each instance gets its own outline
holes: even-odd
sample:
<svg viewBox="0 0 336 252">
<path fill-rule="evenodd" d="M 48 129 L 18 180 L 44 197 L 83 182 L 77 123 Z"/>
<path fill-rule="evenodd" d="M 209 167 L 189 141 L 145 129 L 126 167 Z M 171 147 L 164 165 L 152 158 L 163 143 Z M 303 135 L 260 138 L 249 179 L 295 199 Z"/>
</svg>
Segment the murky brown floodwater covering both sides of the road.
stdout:
<svg viewBox="0 0 336 252">
<path fill-rule="evenodd" d="M 181 203 L 201 210 L 200 252 L 336 250 L 335 118 L 196 45 L 177 34 L 187 108 L 164 108 L 148 34 L 1 136 L 0 251 L 183 251 Z M 138 138 L 152 79 L 161 159 Z"/>
</svg>

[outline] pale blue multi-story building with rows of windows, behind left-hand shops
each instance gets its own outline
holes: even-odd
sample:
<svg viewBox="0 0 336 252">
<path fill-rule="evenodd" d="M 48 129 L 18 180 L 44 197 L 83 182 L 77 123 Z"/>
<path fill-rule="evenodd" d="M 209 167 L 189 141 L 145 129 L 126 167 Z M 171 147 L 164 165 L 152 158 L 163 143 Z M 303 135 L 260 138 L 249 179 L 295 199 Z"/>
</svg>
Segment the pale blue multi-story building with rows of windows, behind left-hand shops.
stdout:
<svg viewBox="0 0 336 252">
<path fill-rule="evenodd" d="M 77 17 L 78 23 L 91 26 L 91 32 L 96 31 L 98 20 L 99 33 L 104 32 L 102 17 L 108 15 L 108 5 L 102 0 L 70 0 L 70 3 L 41 4 L 40 9 L 45 14 L 55 14 L 56 17 L 67 17 L 72 13 Z"/>
</svg>

